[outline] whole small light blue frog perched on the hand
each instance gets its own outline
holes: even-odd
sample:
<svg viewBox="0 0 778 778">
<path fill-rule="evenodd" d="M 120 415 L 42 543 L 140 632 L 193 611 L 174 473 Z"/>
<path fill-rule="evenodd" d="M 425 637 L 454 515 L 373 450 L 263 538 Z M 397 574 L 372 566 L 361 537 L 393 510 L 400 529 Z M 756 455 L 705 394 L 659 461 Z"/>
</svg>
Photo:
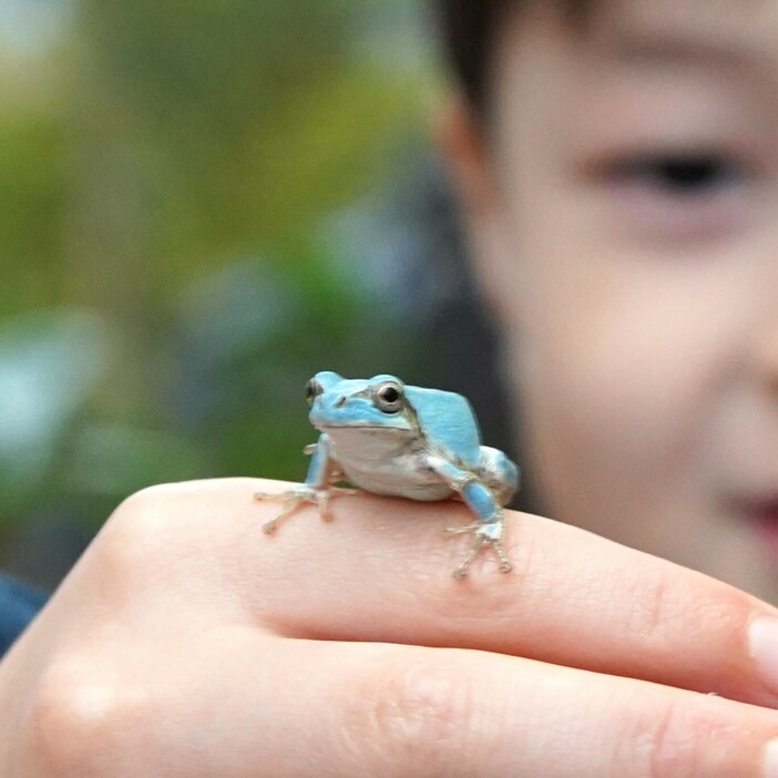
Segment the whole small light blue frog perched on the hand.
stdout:
<svg viewBox="0 0 778 778">
<path fill-rule="evenodd" d="M 387 397 L 397 395 L 393 403 L 381 399 L 387 388 Z M 473 531 L 475 543 L 454 576 L 467 574 L 485 544 L 503 572 L 512 570 L 502 547 L 502 506 L 519 488 L 519 469 L 502 451 L 481 446 L 475 416 L 461 395 L 407 386 L 396 376 L 345 379 L 329 371 L 309 381 L 308 393 L 309 419 L 321 434 L 306 449 L 311 460 L 305 485 L 284 494 L 287 503 L 266 532 L 305 501 L 318 503 L 327 518 L 331 485 L 341 480 L 412 500 L 459 494 L 477 521 L 449 532 Z"/>
</svg>

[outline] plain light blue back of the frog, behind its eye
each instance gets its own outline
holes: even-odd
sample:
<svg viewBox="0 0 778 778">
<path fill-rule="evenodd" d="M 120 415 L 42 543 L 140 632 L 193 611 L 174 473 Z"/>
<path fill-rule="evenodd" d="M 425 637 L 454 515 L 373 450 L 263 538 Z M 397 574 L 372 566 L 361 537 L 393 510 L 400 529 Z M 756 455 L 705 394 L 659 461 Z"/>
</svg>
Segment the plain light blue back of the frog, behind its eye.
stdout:
<svg viewBox="0 0 778 778">
<path fill-rule="evenodd" d="M 481 436 L 475 413 L 461 395 L 406 386 L 406 396 L 430 442 L 469 468 L 479 463 Z"/>
</svg>

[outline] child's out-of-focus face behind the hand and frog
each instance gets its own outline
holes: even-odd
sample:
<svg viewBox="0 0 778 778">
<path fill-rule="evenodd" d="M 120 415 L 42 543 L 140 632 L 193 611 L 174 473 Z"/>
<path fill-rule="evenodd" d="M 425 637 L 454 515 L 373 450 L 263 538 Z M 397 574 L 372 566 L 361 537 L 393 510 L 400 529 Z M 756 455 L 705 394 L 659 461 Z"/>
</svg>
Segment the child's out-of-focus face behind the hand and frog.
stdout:
<svg viewBox="0 0 778 778">
<path fill-rule="evenodd" d="M 516 17 L 459 166 L 545 511 L 776 598 L 778 0 Z"/>
</svg>

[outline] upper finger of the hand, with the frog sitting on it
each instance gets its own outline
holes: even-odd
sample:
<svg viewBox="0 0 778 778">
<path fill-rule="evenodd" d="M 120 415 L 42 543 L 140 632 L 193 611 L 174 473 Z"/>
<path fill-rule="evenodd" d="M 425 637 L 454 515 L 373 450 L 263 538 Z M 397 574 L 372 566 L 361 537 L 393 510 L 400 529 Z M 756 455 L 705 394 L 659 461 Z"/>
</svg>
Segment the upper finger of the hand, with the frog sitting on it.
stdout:
<svg viewBox="0 0 778 778">
<path fill-rule="evenodd" d="M 182 602 L 212 605 L 207 618 L 235 618 L 229 602 L 276 634 L 481 648 L 778 706 L 778 622 L 761 621 L 776 611 L 731 586 L 518 513 L 506 534 L 514 572 L 488 559 L 457 582 L 468 543 L 443 530 L 468 521 L 463 505 L 341 497 L 331 522 L 300 509 L 268 538 L 260 528 L 279 504 L 252 495 L 286 485 L 154 489 L 120 510 L 123 529 L 103 543 L 130 560 L 135 590 L 143 579 L 150 611 L 161 594 L 150 576 L 164 576 L 163 591 L 175 581 Z"/>
</svg>

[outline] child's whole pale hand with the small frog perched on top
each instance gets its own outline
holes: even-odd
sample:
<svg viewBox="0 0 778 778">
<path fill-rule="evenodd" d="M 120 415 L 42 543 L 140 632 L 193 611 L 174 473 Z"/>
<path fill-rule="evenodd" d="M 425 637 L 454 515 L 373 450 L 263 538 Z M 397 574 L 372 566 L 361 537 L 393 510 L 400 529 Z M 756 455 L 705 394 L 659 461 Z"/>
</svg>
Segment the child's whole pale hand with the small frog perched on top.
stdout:
<svg viewBox="0 0 778 778">
<path fill-rule="evenodd" d="M 515 572 L 457 582 L 451 501 L 344 497 L 270 539 L 279 505 L 252 495 L 283 488 L 115 512 L 0 664 L 0 775 L 778 775 L 778 713 L 756 707 L 778 707 L 778 622 L 757 658 L 747 639 L 770 606 L 510 512 Z"/>
</svg>

